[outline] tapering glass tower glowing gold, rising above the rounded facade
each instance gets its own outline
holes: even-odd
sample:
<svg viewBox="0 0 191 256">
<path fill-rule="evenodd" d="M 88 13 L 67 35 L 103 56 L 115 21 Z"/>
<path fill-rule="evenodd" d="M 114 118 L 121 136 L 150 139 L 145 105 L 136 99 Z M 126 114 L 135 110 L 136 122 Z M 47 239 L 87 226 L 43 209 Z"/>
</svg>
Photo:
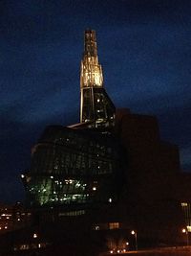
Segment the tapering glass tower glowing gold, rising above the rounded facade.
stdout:
<svg viewBox="0 0 191 256">
<path fill-rule="evenodd" d="M 89 128 L 108 128 L 115 122 L 115 105 L 103 88 L 101 65 L 96 50 L 96 32 L 85 31 L 80 74 L 80 123 Z"/>
</svg>

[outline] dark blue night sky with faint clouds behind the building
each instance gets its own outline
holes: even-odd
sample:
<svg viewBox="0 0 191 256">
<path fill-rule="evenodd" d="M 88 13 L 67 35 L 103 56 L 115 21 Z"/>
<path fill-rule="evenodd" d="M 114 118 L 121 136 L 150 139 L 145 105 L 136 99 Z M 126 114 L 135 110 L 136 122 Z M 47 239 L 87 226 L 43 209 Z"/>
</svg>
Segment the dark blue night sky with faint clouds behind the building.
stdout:
<svg viewBox="0 0 191 256">
<path fill-rule="evenodd" d="M 115 105 L 157 115 L 191 171 L 191 1 L 1 1 L 0 201 L 23 199 L 19 175 L 45 126 L 78 122 L 87 28 Z"/>
</svg>

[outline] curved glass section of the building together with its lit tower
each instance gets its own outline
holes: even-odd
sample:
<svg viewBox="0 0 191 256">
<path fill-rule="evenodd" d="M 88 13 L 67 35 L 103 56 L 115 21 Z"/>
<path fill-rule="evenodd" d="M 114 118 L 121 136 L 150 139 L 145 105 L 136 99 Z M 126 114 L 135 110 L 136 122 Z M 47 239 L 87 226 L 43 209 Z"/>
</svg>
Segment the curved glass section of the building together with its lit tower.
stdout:
<svg viewBox="0 0 191 256">
<path fill-rule="evenodd" d="M 117 200 L 122 153 L 112 132 L 116 108 L 103 88 L 95 31 L 85 32 L 80 78 L 80 123 L 46 128 L 32 149 L 31 170 L 22 175 L 29 206 L 77 205 L 83 213 L 92 203 Z"/>
</svg>

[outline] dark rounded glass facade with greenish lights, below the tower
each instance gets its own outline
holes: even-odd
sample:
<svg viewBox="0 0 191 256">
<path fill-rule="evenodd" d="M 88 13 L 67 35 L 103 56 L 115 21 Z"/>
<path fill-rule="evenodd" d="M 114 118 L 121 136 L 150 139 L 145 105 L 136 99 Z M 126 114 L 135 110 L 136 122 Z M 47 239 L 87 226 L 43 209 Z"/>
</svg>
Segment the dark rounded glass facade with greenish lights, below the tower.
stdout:
<svg viewBox="0 0 191 256">
<path fill-rule="evenodd" d="M 32 149 L 30 172 L 22 175 L 28 204 L 111 203 L 119 166 L 119 145 L 109 132 L 48 127 Z"/>
</svg>

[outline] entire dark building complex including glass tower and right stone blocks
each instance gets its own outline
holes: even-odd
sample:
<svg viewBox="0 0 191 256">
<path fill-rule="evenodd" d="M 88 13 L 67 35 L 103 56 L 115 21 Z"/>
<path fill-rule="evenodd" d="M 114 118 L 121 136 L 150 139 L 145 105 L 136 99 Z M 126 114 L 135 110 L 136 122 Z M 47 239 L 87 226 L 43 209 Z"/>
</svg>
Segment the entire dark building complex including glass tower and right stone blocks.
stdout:
<svg viewBox="0 0 191 256">
<path fill-rule="evenodd" d="M 103 87 L 95 31 L 84 41 L 80 123 L 45 128 L 32 148 L 22 175 L 32 241 L 15 248 L 41 244 L 43 255 L 76 256 L 185 244 L 191 176 L 180 171 L 179 149 L 160 139 L 156 117 L 116 110 Z"/>
</svg>

